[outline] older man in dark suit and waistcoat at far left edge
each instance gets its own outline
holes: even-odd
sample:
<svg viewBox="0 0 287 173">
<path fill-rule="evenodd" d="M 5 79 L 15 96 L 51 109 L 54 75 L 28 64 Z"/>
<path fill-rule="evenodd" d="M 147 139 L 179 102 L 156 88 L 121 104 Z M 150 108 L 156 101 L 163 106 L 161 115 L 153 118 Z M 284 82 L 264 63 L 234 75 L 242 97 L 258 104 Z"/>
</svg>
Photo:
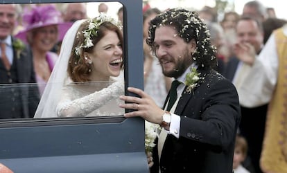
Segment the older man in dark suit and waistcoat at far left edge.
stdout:
<svg viewBox="0 0 287 173">
<path fill-rule="evenodd" d="M 0 119 L 33 117 L 40 100 L 31 50 L 11 35 L 16 6 L 0 5 Z"/>
</svg>

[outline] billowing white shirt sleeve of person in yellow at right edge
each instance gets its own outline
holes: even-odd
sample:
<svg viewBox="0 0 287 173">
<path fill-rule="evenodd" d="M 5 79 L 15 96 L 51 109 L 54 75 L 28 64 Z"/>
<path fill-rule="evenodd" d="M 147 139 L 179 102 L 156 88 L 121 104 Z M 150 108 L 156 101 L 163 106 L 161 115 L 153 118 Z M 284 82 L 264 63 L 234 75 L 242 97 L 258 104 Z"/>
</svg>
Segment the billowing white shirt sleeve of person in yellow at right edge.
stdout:
<svg viewBox="0 0 287 173">
<path fill-rule="evenodd" d="M 287 25 L 284 26 L 284 35 L 287 36 Z M 250 66 L 243 85 L 236 88 L 239 101 L 244 107 L 259 107 L 270 102 L 272 93 L 277 84 L 279 60 L 275 35 L 270 35 L 268 42 Z"/>
</svg>

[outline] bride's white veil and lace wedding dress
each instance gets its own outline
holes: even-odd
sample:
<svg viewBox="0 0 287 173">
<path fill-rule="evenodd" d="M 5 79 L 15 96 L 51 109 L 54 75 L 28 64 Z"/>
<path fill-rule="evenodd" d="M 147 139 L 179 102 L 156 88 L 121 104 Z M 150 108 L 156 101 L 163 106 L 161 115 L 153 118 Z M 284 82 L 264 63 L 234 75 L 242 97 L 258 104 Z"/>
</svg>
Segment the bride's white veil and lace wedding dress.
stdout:
<svg viewBox="0 0 287 173">
<path fill-rule="evenodd" d="M 76 21 L 64 36 L 34 118 L 123 115 L 124 109 L 119 107 L 119 95 L 124 95 L 123 82 L 110 78 L 106 82 L 75 83 L 67 75 L 73 39 L 83 21 Z"/>
</svg>

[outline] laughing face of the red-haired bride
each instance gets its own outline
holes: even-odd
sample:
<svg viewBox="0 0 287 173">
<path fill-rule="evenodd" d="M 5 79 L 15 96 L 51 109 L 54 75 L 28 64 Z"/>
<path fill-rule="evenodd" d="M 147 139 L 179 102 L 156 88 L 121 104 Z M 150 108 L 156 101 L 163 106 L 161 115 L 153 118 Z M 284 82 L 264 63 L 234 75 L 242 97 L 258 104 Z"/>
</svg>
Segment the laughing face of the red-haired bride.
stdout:
<svg viewBox="0 0 287 173">
<path fill-rule="evenodd" d="M 107 30 L 105 36 L 94 46 L 89 59 L 92 60 L 91 80 L 108 80 L 121 71 L 123 49 L 115 31 Z"/>
</svg>

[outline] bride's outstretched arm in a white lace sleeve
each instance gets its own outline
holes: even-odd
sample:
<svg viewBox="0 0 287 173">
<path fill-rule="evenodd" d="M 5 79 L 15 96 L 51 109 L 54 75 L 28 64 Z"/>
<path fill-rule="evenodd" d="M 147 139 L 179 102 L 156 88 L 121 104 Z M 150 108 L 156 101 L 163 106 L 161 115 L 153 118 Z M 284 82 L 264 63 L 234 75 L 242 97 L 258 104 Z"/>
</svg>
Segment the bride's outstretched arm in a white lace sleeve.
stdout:
<svg viewBox="0 0 287 173">
<path fill-rule="evenodd" d="M 107 88 L 101 89 L 101 91 L 96 91 L 73 100 L 73 95 L 75 95 L 73 87 L 72 89 L 65 87 L 62 93 L 62 99 L 56 109 L 57 114 L 60 117 L 87 116 L 87 114 L 123 94 L 123 82 L 114 82 Z"/>
</svg>

